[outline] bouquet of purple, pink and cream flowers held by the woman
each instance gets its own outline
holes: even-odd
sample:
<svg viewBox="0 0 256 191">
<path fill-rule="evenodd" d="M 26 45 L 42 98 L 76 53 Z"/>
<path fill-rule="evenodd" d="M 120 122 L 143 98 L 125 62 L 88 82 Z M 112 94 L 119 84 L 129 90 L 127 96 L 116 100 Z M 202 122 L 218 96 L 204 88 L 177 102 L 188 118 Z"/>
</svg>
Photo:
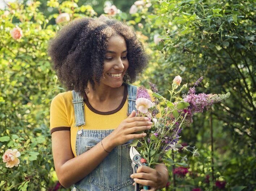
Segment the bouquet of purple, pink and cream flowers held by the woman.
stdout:
<svg viewBox="0 0 256 191">
<path fill-rule="evenodd" d="M 144 86 L 140 86 L 137 90 L 137 116 L 147 116 L 153 124 L 151 129 L 146 130 L 147 136 L 134 139 L 131 146 L 136 147 L 151 168 L 156 164 L 161 164 L 162 161 L 167 165 L 177 164 L 187 167 L 186 163 L 182 163 L 186 161 L 185 157 L 180 156 L 181 163 L 175 163 L 170 157 L 173 151 L 181 148 L 192 152 L 193 156 L 198 155 L 195 147 L 178 144 L 182 128 L 193 122 L 192 117 L 195 113 L 208 110 L 213 103 L 221 102 L 230 96 L 229 92 L 226 94 L 196 94 L 196 86 L 203 80 L 203 77 L 200 77 L 194 86 L 189 88 L 187 94 L 182 95 L 182 98 L 177 97 L 187 87 L 187 84 L 180 86 L 181 80 L 180 76 L 176 76 L 173 80 L 172 89 L 168 90 L 171 96 L 169 100 L 158 94 L 156 85 L 150 82 L 154 101 L 151 100 Z M 156 115 L 161 111 L 158 110 L 157 105 L 160 101 L 164 101 L 164 108 L 161 108 L 162 117 L 158 118 Z"/>
</svg>

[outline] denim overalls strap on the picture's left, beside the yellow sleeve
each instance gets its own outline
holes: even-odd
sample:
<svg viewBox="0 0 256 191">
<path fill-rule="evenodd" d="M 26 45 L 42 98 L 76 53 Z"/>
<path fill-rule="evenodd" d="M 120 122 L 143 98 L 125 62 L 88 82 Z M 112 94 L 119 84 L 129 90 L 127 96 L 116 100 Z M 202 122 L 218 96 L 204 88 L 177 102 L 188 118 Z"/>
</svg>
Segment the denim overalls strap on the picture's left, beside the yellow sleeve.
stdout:
<svg viewBox="0 0 256 191">
<path fill-rule="evenodd" d="M 79 92 L 75 92 L 72 90 L 73 100 L 72 103 L 74 104 L 74 111 L 75 111 L 75 125 L 80 126 L 85 124 L 84 119 L 84 99 L 81 97 Z"/>
</svg>

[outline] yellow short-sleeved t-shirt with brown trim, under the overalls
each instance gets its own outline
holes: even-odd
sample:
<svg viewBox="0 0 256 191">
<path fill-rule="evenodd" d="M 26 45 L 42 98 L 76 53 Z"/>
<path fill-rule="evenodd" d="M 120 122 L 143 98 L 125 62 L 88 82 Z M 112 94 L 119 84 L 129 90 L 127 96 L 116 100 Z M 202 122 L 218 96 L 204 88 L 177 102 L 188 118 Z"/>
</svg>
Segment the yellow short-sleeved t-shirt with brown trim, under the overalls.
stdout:
<svg viewBox="0 0 256 191">
<path fill-rule="evenodd" d="M 151 100 L 152 91 L 148 90 Z M 71 135 L 71 148 L 74 156 L 76 156 L 75 144 L 77 131 L 82 129 L 81 126 L 75 127 L 75 112 L 74 105 L 72 103 L 72 91 L 59 93 L 56 95 L 50 108 L 50 129 L 51 133 L 57 130 L 70 130 Z M 119 124 L 127 118 L 128 110 L 128 99 L 127 99 L 127 88 L 125 88 L 125 94 L 119 107 L 113 111 L 100 112 L 95 110 L 88 102 L 84 99 L 84 113 L 85 122 L 83 129 L 88 130 L 108 130 L 116 129 Z M 160 110 L 160 108 L 158 108 Z M 160 117 L 159 113 L 157 117 Z"/>
</svg>

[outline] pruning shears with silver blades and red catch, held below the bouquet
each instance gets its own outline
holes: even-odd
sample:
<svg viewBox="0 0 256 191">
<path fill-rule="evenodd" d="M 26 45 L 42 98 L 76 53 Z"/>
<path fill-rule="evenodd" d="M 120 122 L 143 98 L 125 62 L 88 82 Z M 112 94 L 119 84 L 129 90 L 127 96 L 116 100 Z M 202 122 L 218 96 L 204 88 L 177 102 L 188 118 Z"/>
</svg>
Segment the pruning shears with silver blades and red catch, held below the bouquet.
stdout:
<svg viewBox="0 0 256 191">
<path fill-rule="evenodd" d="M 130 149 L 130 158 L 131 158 L 131 167 L 133 168 L 133 173 L 137 173 L 137 169 L 139 166 L 147 166 L 147 161 L 146 159 L 143 159 L 139 152 L 131 146 Z M 149 190 L 148 186 L 143 185 L 143 190 Z M 135 189 L 134 191 L 139 191 L 139 184 L 135 183 Z"/>
</svg>

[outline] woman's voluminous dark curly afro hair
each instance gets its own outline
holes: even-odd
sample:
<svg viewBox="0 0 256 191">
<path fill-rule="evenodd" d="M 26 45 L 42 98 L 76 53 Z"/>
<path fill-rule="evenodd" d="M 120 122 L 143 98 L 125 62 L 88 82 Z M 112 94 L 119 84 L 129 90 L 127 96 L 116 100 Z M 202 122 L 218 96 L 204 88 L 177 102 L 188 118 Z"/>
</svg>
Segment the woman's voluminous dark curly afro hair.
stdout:
<svg viewBox="0 0 256 191">
<path fill-rule="evenodd" d="M 100 83 L 108 40 L 112 35 L 121 35 L 126 41 L 129 67 L 123 83 L 132 83 L 146 68 L 150 56 L 137 39 L 134 28 L 116 19 L 76 19 L 57 32 L 48 48 L 52 67 L 68 90 L 84 93 L 84 90 L 88 91 L 88 82 L 93 89 L 93 79 Z"/>
</svg>

